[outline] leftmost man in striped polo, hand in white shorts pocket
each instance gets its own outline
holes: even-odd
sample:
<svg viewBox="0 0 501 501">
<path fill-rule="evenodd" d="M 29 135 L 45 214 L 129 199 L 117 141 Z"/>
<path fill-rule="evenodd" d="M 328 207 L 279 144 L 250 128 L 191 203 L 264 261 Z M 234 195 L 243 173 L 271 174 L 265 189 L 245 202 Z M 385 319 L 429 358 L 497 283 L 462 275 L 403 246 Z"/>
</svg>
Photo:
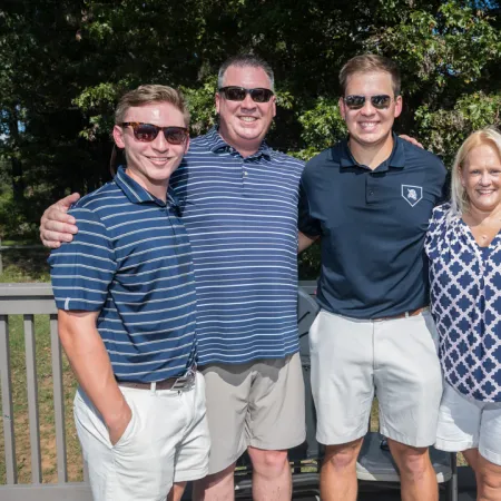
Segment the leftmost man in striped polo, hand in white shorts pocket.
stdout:
<svg viewBox="0 0 501 501">
<path fill-rule="evenodd" d="M 49 257 L 97 501 L 163 501 L 169 491 L 178 500 L 186 481 L 207 474 L 191 249 L 169 187 L 188 120 L 170 87 L 126 94 L 112 135 L 127 167 L 71 207 L 79 232 Z"/>
</svg>

